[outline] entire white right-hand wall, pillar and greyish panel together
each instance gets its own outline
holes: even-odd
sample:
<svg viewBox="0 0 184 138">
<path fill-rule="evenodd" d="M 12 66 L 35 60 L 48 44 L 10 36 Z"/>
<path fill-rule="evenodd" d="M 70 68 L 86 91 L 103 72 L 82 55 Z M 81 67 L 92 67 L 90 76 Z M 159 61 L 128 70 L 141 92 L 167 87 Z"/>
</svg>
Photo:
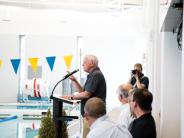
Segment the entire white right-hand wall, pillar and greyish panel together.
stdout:
<svg viewBox="0 0 184 138">
<path fill-rule="evenodd" d="M 158 138 L 180 138 L 181 51 L 176 34 L 160 32 L 168 6 L 159 0 L 146 1 L 146 23 L 150 32 L 148 70 L 154 93 L 153 115 Z"/>
</svg>

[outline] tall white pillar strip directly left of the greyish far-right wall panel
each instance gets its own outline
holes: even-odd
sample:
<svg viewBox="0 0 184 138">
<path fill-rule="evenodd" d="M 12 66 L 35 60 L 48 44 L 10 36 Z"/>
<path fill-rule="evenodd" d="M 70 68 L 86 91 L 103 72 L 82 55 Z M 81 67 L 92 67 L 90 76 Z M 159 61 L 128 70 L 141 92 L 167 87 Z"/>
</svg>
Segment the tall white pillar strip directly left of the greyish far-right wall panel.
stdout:
<svg viewBox="0 0 184 138">
<path fill-rule="evenodd" d="M 160 49 L 160 1 L 144 1 L 145 4 L 145 26 L 148 35 L 148 58 L 147 71 L 150 76 L 150 91 L 153 93 L 153 111 L 157 128 L 157 137 L 160 138 L 160 87 L 161 87 L 161 49 Z"/>
</svg>

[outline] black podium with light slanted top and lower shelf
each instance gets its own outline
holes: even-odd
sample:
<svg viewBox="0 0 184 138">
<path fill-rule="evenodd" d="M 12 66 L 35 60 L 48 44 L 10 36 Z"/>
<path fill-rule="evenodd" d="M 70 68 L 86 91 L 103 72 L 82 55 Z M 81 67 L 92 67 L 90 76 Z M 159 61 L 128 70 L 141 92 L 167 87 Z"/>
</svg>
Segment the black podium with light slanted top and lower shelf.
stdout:
<svg viewBox="0 0 184 138">
<path fill-rule="evenodd" d="M 63 103 L 73 104 L 74 102 L 80 102 L 80 100 L 68 100 L 60 97 L 53 96 L 53 120 L 56 127 L 56 138 L 62 138 L 62 123 L 63 121 L 72 121 L 78 119 L 78 116 L 63 116 Z"/>
</svg>

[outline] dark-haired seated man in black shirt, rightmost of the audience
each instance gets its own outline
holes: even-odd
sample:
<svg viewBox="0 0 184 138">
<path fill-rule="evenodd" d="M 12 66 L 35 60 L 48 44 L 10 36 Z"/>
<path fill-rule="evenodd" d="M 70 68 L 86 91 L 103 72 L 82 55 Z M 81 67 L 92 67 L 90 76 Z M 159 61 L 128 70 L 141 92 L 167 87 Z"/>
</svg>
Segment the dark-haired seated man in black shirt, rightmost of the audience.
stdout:
<svg viewBox="0 0 184 138">
<path fill-rule="evenodd" d="M 135 88 L 131 91 L 130 110 L 136 118 L 129 126 L 133 138 L 156 138 L 156 127 L 151 115 L 152 94 L 147 89 Z"/>
</svg>

